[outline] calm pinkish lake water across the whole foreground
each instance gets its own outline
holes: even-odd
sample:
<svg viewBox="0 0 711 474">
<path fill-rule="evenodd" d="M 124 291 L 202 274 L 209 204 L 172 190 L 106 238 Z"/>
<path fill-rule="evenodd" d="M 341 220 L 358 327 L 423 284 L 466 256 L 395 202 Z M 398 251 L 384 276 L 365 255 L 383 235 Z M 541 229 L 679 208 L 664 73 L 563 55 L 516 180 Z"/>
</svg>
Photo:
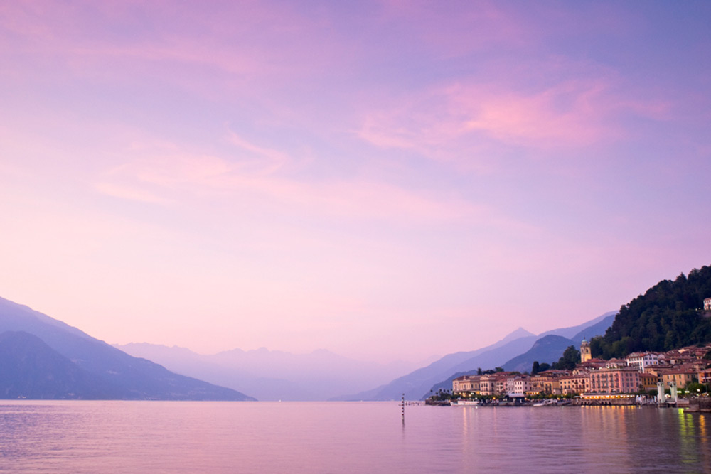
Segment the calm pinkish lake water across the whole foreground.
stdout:
<svg viewBox="0 0 711 474">
<path fill-rule="evenodd" d="M 0 470 L 711 473 L 711 416 L 397 402 L 0 401 Z"/>
</svg>

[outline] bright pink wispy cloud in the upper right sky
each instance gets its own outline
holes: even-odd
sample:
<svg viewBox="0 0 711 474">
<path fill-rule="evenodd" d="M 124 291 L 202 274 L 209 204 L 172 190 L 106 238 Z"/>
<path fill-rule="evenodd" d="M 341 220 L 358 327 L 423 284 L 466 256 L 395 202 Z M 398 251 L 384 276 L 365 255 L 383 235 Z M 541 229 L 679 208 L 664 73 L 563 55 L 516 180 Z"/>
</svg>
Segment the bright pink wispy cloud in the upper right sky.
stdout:
<svg viewBox="0 0 711 474">
<path fill-rule="evenodd" d="M 621 114 L 659 119 L 667 109 L 662 102 L 630 98 L 602 77 L 561 80 L 537 90 L 459 82 L 366 111 L 357 134 L 376 146 L 418 149 L 429 156 L 476 136 L 560 149 L 618 139 L 626 133 L 617 122 Z"/>
</svg>

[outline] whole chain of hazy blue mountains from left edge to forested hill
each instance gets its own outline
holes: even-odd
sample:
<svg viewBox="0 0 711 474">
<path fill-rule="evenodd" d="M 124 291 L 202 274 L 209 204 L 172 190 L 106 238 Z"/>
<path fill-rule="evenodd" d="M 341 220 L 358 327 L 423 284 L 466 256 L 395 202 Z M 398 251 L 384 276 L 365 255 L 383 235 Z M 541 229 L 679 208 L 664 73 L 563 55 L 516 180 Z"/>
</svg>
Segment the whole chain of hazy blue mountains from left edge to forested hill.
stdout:
<svg viewBox="0 0 711 474">
<path fill-rule="evenodd" d="M 530 370 L 532 357 L 553 362 L 568 345 L 604 333 L 613 320 L 614 313 L 606 313 L 538 336 L 518 328 L 486 348 L 455 352 L 416 368 L 405 362 L 360 362 L 327 350 L 294 355 L 235 349 L 200 355 L 148 343 L 113 347 L 0 298 L 0 397 L 389 400 L 404 393 L 419 399 L 479 367 L 523 371 Z"/>
</svg>

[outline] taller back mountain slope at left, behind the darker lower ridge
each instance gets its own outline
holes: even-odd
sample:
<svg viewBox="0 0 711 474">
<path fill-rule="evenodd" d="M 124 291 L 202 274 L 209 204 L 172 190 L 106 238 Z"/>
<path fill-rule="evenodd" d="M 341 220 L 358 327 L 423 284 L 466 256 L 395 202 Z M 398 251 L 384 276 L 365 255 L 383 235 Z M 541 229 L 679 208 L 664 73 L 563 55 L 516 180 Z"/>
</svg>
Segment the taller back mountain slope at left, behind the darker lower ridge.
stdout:
<svg viewBox="0 0 711 474">
<path fill-rule="evenodd" d="M 0 333 L 6 331 L 23 331 L 40 338 L 50 349 L 76 367 L 101 379 L 97 387 L 112 387 L 110 398 L 252 399 L 232 389 L 174 374 L 154 362 L 132 357 L 62 321 L 0 298 Z M 34 346 L 28 343 L 28 347 Z"/>
</svg>

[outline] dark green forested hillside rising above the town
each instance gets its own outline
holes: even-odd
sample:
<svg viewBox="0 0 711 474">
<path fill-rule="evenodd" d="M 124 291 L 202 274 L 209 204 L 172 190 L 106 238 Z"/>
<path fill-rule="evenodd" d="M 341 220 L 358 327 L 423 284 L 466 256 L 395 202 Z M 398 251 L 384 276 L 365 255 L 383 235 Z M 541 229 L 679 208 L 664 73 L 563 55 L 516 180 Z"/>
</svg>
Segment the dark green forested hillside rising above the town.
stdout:
<svg viewBox="0 0 711 474">
<path fill-rule="evenodd" d="M 593 357 L 624 357 L 630 352 L 663 352 L 711 342 L 711 267 L 663 280 L 620 308 L 605 335 L 590 342 Z"/>
</svg>

